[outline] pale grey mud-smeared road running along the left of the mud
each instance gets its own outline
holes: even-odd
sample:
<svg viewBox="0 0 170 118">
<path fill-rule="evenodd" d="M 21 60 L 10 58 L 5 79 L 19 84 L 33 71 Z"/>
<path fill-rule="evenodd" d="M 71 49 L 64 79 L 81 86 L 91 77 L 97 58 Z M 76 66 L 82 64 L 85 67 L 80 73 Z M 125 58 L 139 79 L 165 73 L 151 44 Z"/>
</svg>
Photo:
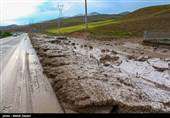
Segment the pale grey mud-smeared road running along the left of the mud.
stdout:
<svg viewBox="0 0 170 118">
<path fill-rule="evenodd" d="M 0 113 L 63 113 L 26 33 L 0 39 Z"/>
</svg>

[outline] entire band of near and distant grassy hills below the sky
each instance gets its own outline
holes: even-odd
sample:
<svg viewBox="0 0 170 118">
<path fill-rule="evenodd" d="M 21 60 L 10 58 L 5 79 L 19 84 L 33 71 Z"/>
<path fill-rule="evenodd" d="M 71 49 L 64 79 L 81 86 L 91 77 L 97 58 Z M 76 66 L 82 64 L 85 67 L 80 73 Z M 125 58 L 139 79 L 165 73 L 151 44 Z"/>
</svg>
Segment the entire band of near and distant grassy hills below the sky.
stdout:
<svg viewBox="0 0 170 118">
<path fill-rule="evenodd" d="M 170 5 L 146 7 L 132 13 L 89 15 L 89 29 L 84 32 L 83 16 L 63 18 L 62 28 L 57 28 L 57 19 L 20 26 L 13 31 L 37 31 L 51 35 L 88 34 L 96 39 L 143 37 L 144 31 L 170 32 Z"/>
</svg>

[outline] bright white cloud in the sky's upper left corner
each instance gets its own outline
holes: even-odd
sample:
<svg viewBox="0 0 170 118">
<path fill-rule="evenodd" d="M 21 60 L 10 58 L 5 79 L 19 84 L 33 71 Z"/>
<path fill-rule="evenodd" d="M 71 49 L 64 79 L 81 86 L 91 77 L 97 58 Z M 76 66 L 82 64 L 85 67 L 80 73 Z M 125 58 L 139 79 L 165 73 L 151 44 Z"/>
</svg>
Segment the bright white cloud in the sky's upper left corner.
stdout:
<svg viewBox="0 0 170 118">
<path fill-rule="evenodd" d="M 0 0 L 0 25 L 15 23 L 16 19 L 37 11 L 46 0 Z"/>
</svg>

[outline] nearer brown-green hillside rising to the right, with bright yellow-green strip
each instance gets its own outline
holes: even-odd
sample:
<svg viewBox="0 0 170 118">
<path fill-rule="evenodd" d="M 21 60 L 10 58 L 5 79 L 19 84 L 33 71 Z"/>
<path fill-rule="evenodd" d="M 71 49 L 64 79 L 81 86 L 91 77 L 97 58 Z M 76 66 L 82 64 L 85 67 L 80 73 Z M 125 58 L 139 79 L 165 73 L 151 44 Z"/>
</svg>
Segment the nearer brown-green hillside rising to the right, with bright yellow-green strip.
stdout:
<svg viewBox="0 0 170 118">
<path fill-rule="evenodd" d="M 74 25 L 61 28 L 49 28 L 46 31 L 50 34 L 72 34 L 82 33 L 82 25 Z M 113 20 L 104 20 L 89 23 L 88 33 L 95 38 L 122 38 L 142 37 L 144 31 L 170 32 L 170 5 L 152 6 L 139 9 Z"/>
</svg>

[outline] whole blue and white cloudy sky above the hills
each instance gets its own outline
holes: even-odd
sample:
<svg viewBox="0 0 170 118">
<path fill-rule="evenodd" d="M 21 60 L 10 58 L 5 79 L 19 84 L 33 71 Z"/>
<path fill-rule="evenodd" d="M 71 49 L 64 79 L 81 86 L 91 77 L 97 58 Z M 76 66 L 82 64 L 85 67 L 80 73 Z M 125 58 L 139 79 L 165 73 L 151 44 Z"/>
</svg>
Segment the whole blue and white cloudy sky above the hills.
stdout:
<svg viewBox="0 0 170 118">
<path fill-rule="evenodd" d="M 117 14 L 139 8 L 170 4 L 170 0 L 87 0 L 88 12 Z M 84 0 L 0 0 L 0 26 L 30 24 L 59 17 L 58 4 L 63 5 L 63 17 L 84 14 Z"/>
</svg>

